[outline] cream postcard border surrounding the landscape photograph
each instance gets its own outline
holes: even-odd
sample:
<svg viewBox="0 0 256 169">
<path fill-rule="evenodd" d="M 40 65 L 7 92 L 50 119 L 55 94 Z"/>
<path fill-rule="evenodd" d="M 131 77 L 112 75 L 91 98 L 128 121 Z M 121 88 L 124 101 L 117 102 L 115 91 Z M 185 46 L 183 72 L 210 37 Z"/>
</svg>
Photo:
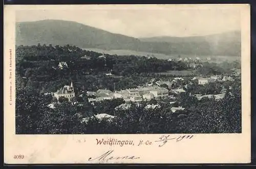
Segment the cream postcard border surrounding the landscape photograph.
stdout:
<svg viewBox="0 0 256 169">
<path fill-rule="evenodd" d="M 119 5 L 118 5 L 119 6 Z M 158 147 L 161 134 L 90 135 L 15 135 L 15 11 L 28 9 L 82 9 L 83 5 L 4 7 L 4 162 L 25 163 L 249 163 L 250 157 L 250 6 L 249 5 L 121 5 L 122 8 L 237 8 L 241 11 L 242 37 L 242 133 L 193 134 L 182 142 L 169 141 Z M 115 5 L 91 5 L 90 8 L 116 8 Z M 11 51 L 10 51 L 11 50 Z M 11 55 L 11 56 L 10 56 Z M 10 59 L 11 58 L 11 59 Z M 11 62 L 11 67 L 10 67 Z M 11 78 L 9 79 L 11 74 Z M 12 90 L 10 94 L 10 88 Z M 10 101 L 11 98 L 11 101 Z M 10 105 L 12 103 L 12 105 Z M 179 136 L 182 134 L 172 134 Z M 191 134 L 189 134 L 191 135 Z M 97 139 L 133 140 L 135 146 L 99 146 Z M 137 146 L 140 140 L 148 144 Z M 151 145 L 150 145 L 150 142 Z M 138 159 L 89 161 L 109 150 L 112 155 Z M 24 159 L 14 159 L 24 155 Z"/>
</svg>

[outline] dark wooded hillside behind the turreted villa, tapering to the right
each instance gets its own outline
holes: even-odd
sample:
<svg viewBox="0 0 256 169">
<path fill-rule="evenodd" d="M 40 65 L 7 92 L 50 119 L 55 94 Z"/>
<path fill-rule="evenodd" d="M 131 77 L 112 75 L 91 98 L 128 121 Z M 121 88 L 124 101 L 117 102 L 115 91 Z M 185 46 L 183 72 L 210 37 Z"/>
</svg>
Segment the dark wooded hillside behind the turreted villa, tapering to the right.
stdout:
<svg viewBox="0 0 256 169">
<path fill-rule="evenodd" d="M 105 55 L 81 50 L 76 46 L 33 45 L 16 46 L 16 87 L 31 87 L 40 92 L 52 92 L 73 81 L 77 88 L 92 91 L 100 88 L 133 88 L 139 79 L 130 77 L 146 76 L 162 71 L 184 70 L 182 62 L 160 60 L 137 56 Z M 90 57 L 84 59 L 81 57 Z M 60 69 L 58 64 L 66 62 L 68 67 Z M 115 76 L 106 76 L 106 73 Z M 119 78 L 118 78 L 119 77 Z M 120 80 L 120 77 L 124 77 Z M 82 87 L 83 86 L 83 87 Z"/>
</svg>

